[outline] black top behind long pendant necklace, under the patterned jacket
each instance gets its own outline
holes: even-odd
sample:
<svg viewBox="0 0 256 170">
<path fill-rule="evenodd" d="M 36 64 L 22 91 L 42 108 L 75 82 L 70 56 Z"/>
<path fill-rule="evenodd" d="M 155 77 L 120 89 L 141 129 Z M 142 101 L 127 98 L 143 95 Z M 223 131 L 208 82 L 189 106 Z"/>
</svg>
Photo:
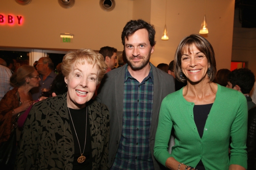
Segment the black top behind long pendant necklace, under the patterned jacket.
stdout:
<svg viewBox="0 0 256 170">
<path fill-rule="evenodd" d="M 75 154 L 74 154 L 74 161 L 73 161 L 73 170 L 90 170 L 92 169 L 92 164 L 90 161 L 91 157 L 91 136 L 90 136 L 90 122 L 89 122 L 89 113 L 87 113 L 87 133 L 86 133 L 86 144 L 84 148 L 84 142 L 85 142 L 85 125 L 86 125 L 86 110 L 87 107 L 82 108 L 82 109 L 72 109 L 69 108 L 70 114 L 72 116 L 72 120 L 76 129 L 76 133 L 73 127 L 73 123 L 70 118 L 69 114 L 69 119 L 70 119 L 70 128 L 72 131 L 73 135 L 73 140 L 74 140 L 74 148 L 75 148 Z M 80 147 L 81 147 L 81 152 L 79 148 L 79 143 L 77 141 L 77 137 L 79 139 Z M 81 156 L 81 153 L 84 154 L 83 156 L 86 157 L 85 161 L 83 163 L 78 163 L 77 159 L 79 156 Z"/>
</svg>

